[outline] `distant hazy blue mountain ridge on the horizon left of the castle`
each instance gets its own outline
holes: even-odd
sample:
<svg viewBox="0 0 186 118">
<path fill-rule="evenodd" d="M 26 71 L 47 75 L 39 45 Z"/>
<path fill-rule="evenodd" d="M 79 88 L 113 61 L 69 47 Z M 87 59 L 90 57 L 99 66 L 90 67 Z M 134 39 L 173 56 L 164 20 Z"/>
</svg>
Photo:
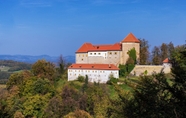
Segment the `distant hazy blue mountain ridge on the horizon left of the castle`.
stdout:
<svg viewBox="0 0 186 118">
<path fill-rule="evenodd" d="M 0 55 L 0 60 L 13 60 L 19 62 L 26 63 L 35 63 L 37 60 L 45 59 L 47 61 L 56 63 L 59 60 L 59 57 L 49 56 L 49 55 L 39 55 L 39 56 L 31 56 L 31 55 Z M 64 56 L 64 59 L 69 63 L 75 62 L 75 56 Z"/>
</svg>

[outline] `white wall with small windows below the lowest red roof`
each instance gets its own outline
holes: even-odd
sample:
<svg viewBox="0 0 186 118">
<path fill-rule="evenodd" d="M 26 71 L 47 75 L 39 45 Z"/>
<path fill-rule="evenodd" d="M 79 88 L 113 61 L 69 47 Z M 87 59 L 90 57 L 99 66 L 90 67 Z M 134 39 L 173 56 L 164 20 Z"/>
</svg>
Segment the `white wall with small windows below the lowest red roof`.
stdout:
<svg viewBox="0 0 186 118">
<path fill-rule="evenodd" d="M 118 70 L 86 70 L 86 69 L 68 69 L 68 81 L 73 81 L 78 76 L 88 75 L 90 82 L 106 83 L 109 80 L 109 76 L 113 75 L 115 78 L 119 78 Z"/>
</svg>

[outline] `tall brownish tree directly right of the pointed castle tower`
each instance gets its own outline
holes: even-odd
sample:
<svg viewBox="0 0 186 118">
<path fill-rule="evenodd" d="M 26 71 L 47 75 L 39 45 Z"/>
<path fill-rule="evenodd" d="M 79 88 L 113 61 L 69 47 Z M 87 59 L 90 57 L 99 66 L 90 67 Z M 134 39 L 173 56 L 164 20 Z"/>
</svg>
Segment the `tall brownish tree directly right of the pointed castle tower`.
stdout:
<svg viewBox="0 0 186 118">
<path fill-rule="evenodd" d="M 149 59 L 149 44 L 148 41 L 145 39 L 140 40 L 140 62 L 141 65 L 148 64 Z"/>
</svg>

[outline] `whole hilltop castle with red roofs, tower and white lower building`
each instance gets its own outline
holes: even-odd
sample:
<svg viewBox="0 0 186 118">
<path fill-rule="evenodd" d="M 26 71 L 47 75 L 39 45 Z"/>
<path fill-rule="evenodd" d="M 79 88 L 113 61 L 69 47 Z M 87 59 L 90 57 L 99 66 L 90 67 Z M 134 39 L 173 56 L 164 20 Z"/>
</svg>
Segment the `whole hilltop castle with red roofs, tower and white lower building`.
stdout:
<svg viewBox="0 0 186 118">
<path fill-rule="evenodd" d="M 126 63 L 129 58 L 127 52 L 133 48 L 139 59 L 140 41 L 132 33 L 120 43 L 111 45 L 84 43 L 76 51 L 76 63 L 68 68 L 68 81 L 86 75 L 89 81 L 100 83 L 106 83 L 110 75 L 119 78 L 118 65 Z"/>
</svg>

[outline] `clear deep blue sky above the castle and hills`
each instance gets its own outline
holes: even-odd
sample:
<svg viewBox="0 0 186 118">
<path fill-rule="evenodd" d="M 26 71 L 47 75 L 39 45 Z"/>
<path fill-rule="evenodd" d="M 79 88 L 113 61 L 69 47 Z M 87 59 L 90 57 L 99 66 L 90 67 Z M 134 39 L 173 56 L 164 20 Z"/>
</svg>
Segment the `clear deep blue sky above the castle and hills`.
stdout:
<svg viewBox="0 0 186 118">
<path fill-rule="evenodd" d="M 74 55 L 130 32 L 150 48 L 185 44 L 186 1 L 0 0 L 0 55 Z"/>
</svg>

